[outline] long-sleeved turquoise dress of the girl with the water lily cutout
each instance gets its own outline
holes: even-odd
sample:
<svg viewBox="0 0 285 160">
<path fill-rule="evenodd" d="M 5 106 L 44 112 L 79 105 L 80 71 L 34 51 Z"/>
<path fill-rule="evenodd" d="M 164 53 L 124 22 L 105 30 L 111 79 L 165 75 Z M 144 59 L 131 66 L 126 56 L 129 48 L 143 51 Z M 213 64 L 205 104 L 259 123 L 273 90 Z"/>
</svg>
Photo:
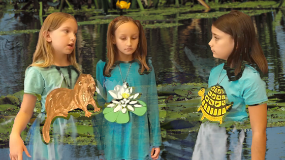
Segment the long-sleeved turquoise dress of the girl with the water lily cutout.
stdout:
<svg viewBox="0 0 285 160">
<path fill-rule="evenodd" d="M 150 146 L 159 147 L 162 144 L 156 81 L 151 60 L 147 60 L 150 70 L 145 70 L 143 73 L 137 59 L 116 61 L 108 75 L 104 75 L 105 64 L 106 62 L 100 60 L 96 69 L 96 79 L 103 86 L 100 92 L 106 94 L 106 100 L 101 95 L 97 95 L 99 105 L 105 109 L 104 104 L 113 100 L 109 91 L 114 90 L 116 85 L 123 84 L 130 69 L 126 82 L 130 87 L 135 88 L 134 92 L 142 93 L 138 100 L 146 103 L 147 112 L 143 116 L 129 112 L 130 120 L 123 124 L 106 120 L 103 112 L 95 116 L 93 127 L 98 149 L 104 150 L 106 160 L 150 159 Z M 122 76 L 118 65 L 120 65 Z"/>
</svg>

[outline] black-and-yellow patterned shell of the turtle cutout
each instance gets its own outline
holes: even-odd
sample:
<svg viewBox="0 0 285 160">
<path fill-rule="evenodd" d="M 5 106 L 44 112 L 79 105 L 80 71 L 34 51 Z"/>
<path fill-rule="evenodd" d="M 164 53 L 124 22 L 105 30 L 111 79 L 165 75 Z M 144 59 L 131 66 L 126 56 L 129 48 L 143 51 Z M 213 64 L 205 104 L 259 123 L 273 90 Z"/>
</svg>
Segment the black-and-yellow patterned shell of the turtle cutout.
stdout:
<svg viewBox="0 0 285 160">
<path fill-rule="evenodd" d="M 210 116 L 219 117 L 227 112 L 226 98 L 220 86 L 213 86 L 202 101 L 202 108 Z"/>
</svg>

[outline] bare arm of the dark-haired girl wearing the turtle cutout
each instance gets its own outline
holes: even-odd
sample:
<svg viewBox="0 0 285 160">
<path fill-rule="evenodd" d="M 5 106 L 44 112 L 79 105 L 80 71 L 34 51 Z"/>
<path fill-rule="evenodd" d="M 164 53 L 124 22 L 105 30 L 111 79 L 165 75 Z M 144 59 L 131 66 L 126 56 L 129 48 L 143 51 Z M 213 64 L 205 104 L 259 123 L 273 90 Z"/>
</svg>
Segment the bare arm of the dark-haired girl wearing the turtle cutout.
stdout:
<svg viewBox="0 0 285 160">
<path fill-rule="evenodd" d="M 252 129 L 251 159 L 265 159 L 267 104 L 248 107 Z"/>
</svg>

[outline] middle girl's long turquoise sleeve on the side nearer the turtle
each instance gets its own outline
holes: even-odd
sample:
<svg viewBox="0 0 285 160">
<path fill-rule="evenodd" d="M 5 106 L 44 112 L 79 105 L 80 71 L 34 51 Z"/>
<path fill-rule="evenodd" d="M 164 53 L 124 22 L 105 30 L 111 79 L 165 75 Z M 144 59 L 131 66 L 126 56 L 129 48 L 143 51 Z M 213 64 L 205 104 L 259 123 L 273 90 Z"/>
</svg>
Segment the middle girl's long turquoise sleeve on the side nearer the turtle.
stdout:
<svg viewBox="0 0 285 160">
<path fill-rule="evenodd" d="M 149 87 L 147 88 L 147 114 L 150 123 L 150 145 L 159 147 L 162 144 L 161 126 L 159 120 L 159 101 L 157 97 L 157 88 L 154 75 L 154 69 L 149 73 Z"/>
</svg>

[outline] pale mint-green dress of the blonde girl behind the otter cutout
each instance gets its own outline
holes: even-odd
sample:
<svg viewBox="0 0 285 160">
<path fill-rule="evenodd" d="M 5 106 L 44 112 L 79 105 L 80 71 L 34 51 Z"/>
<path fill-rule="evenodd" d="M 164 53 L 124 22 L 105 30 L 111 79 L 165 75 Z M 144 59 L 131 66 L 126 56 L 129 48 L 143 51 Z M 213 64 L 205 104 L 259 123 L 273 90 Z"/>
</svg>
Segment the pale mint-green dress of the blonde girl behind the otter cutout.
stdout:
<svg viewBox="0 0 285 160">
<path fill-rule="evenodd" d="M 28 143 L 27 150 L 31 155 L 31 158 L 27 157 L 26 159 L 62 159 L 64 154 L 58 151 L 58 147 L 61 145 L 62 137 L 64 136 L 64 130 L 66 129 L 67 124 L 70 124 L 69 127 L 71 127 L 73 134 L 77 133 L 73 116 L 71 116 L 69 120 L 64 118 L 56 118 L 53 123 L 53 135 L 54 137 L 57 137 L 55 136 L 56 133 L 60 136 L 51 139 L 48 145 L 44 143 L 40 133 L 40 124 L 43 122 L 46 116 L 45 102 L 47 93 L 55 86 L 60 86 L 61 73 L 65 77 L 65 82 L 67 82 L 62 83 L 61 87 L 73 88 L 77 78 L 79 77 L 79 72 L 73 66 L 52 66 L 50 68 L 29 67 L 25 72 L 24 92 L 33 95 L 41 95 L 42 105 L 41 113 L 31 125 L 26 137 L 26 142 Z M 72 137 L 75 140 L 75 135 L 72 135 Z"/>
</svg>

